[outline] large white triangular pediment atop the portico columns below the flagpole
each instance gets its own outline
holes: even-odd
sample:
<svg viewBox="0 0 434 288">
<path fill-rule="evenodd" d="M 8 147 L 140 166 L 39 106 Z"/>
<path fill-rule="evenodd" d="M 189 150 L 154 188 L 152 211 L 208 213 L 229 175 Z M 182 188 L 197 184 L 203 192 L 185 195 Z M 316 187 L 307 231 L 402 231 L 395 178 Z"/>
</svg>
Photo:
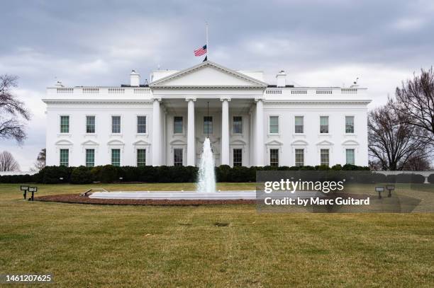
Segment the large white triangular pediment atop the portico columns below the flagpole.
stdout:
<svg viewBox="0 0 434 288">
<path fill-rule="evenodd" d="M 150 83 L 150 88 L 245 87 L 266 88 L 267 83 L 214 62 L 202 62 L 189 69 Z"/>
</svg>

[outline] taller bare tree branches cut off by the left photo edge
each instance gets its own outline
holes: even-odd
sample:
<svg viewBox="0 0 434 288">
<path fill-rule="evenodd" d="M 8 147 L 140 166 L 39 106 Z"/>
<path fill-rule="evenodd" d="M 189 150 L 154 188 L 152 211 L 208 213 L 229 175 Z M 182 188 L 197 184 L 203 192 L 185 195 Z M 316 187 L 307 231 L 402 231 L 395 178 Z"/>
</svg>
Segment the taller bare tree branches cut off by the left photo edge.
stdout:
<svg viewBox="0 0 434 288">
<path fill-rule="evenodd" d="M 0 139 L 12 138 L 21 144 L 26 139 L 22 120 L 30 120 L 30 113 L 11 92 L 17 86 L 17 80 L 17 76 L 0 75 Z"/>
</svg>

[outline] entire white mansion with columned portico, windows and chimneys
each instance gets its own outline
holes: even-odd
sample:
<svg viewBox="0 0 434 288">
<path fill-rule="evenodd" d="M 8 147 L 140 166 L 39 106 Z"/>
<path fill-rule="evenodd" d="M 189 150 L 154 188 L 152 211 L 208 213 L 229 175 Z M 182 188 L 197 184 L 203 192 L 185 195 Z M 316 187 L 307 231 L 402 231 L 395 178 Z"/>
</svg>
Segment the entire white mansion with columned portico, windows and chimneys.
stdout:
<svg viewBox="0 0 434 288">
<path fill-rule="evenodd" d="M 47 164 L 196 166 L 208 135 L 216 165 L 367 166 L 366 88 L 269 85 L 260 71 L 202 62 L 136 71 L 116 87 L 47 89 Z"/>
</svg>

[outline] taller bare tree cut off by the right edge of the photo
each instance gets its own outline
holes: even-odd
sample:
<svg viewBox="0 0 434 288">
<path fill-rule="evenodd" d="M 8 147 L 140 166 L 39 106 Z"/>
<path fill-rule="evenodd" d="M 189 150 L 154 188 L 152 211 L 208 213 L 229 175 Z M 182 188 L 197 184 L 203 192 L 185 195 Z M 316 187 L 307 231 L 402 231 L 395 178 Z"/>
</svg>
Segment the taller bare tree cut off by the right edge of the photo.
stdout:
<svg viewBox="0 0 434 288">
<path fill-rule="evenodd" d="M 394 110 L 406 124 L 419 127 L 421 137 L 434 145 L 434 71 L 421 69 L 421 75 L 414 74 L 413 79 L 403 81 L 402 87 L 396 88 Z"/>
</svg>

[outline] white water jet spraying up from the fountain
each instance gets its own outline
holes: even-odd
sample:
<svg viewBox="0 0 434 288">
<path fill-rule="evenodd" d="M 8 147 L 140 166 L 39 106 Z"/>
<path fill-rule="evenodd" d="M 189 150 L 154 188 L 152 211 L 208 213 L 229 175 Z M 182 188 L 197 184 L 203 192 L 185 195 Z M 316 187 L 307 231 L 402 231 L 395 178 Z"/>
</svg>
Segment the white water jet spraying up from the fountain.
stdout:
<svg viewBox="0 0 434 288">
<path fill-rule="evenodd" d="M 214 173 L 214 156 L 211 151 L 211 142 L 206 137 L 204 141 L 204 151 L 201 156 L 199 166 L 199 181 L 197 183 L 197 192 L 211 193 L 216 192 L 216 175 Z"/>
</svg>

